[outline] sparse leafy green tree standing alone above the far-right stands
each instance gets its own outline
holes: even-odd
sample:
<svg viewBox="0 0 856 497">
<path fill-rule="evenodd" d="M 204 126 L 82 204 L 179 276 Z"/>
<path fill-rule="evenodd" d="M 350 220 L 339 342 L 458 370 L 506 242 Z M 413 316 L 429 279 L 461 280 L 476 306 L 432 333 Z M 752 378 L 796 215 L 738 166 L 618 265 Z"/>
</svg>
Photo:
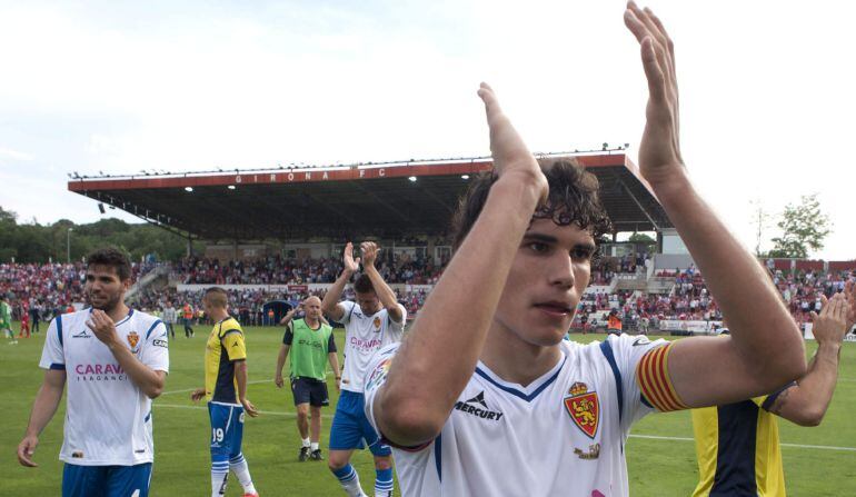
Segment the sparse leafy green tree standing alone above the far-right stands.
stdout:
<svg viewBox="0 0 856 497">
<path fill-rule="evenodd" d="M 824 239 L 832 231 L 829 217 L 820 210 L 817 193 L 800 197 L 797 205 L 788 203 L 777 226 L 782 236 L 774 238 L 769 257 L 805 259 L 824 248 Z"/>
</svg>

